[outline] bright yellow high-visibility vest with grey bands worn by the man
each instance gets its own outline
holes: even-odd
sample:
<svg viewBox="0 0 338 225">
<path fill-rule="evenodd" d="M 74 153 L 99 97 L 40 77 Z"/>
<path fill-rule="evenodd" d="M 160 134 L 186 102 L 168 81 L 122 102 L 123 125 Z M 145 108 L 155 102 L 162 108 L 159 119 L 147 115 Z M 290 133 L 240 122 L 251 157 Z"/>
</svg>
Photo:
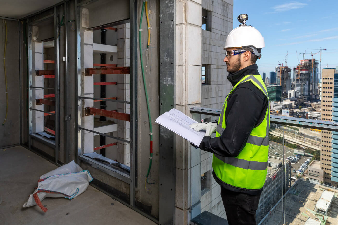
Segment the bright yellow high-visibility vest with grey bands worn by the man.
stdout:
<svg viewBox="0 0 338 225">
<path fill-rule="evenodd" d="M 262 91 L 262 93 L 264 93 L 269 104 L 269 97 L 261 75 L 244 76 L 237 82 L 225 99 L 218 121 L 216 137 L 219 137 L 226 127 L 225 111 L 228 97 L 239 84 L 244 82 L 253 83 L 260 91 Z M 258 105 L 257 107 L 261 106 Z M 268 105 L 265 119 L 252 129 L 243 150 L 237 157 L 213 155 L 212 166 L 214 173 L 221 181 L 236 188 L 252 191 L 259 190 L 263 187 L 268 165 L 269 123 L 270 115 Z"/>
</svg>

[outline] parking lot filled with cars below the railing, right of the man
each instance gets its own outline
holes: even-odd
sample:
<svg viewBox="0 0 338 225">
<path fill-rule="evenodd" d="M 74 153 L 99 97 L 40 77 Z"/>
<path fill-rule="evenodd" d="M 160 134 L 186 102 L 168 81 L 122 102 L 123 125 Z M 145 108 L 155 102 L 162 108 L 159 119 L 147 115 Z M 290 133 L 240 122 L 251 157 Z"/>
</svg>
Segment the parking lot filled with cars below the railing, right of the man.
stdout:
<svg viewBox="0 0 338 225">
<path fill-rule="evenodd" d="M 291 155 L 293 156 L 296 156 L 296 154 L 293 153 L 293 149 L 292 148 L 289 148 L 289 147 L 286 147 L 284 146 L 285 148 L 285 159 Z M 277 154 L 275 154 L 277 153 Z M 273 142 L 273 141 L 269 141 L 269 155 L 271 156 L 277 156 L 277 157 L 280 157 L 280 158 L 283 158 L 283 145 L 281 144 L 278 144 L 276 142 Z M 298 168 L 300 168 L 300 166 L 305 163 L 305 161 L 308 159 L 308 158 L 312 158 L 312 157 L 309 157 L 309 156 L 302 156 L 301 159 L 298 161 L 298 163 L 291 163 L 291 176 L 295 176 L 296 173 L 295 172 L 292 172 L 293 169 L 295 169 L 295 171 L 298 170 Z"/>
</svg>

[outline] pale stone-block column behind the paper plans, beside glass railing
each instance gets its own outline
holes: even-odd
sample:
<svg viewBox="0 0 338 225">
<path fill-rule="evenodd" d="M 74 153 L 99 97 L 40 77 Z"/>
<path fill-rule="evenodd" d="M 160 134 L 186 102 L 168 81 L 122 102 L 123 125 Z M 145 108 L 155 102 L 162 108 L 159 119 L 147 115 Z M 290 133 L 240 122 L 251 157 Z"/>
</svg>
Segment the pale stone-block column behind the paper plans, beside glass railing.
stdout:
<svg viewBox="0 0 338 225">
<path fill-rule="evenodd" d="M 176 1 L 176 109 L 201 105 L 201 0 Z M 200 121 L 199 118 L 193 118 Z M 200 213 L 200 149 L 176 135 L 175 224 Z"/>
</svg>

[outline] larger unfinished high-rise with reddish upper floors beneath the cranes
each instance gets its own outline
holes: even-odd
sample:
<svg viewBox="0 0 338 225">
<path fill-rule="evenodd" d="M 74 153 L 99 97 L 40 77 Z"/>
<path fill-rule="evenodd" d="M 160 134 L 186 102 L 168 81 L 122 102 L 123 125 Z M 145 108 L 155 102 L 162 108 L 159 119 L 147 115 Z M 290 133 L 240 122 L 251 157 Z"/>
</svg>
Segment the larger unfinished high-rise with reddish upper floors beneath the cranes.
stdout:
<svg viewBox="0 0 338 225">
<path fill-rule="evenodd" d="M 305 96 L 305 98 L 317 95 L 319 83 L 318 60 L 300 60 L 298 66 L 293 68 L 293 81 L 295 90 L 300 91 L 299 95 Z"/>
</svg>

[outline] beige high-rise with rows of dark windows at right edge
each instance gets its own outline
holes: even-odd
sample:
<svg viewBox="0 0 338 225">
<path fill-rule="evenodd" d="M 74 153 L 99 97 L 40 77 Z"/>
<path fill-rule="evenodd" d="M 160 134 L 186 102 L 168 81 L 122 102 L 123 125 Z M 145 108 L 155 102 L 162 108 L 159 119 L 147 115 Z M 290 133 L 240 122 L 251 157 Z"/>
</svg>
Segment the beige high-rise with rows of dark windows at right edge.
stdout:
<svg viewBox="0 0 338 225">
<path fill-rule="evenodd" d="M 321 72 L 322 82 L 321 82 L 321 120 L 332 121 L 332 109 L 333 109 L 333 99 L 334 99 L 334 75 L 335 69 L 323 69 Z M 337 81 L 338 84 L 338 81 Z M 338 88 L 337 88 L 338 89 Z M 337 90 L 338 91 L 338 90 Z M 338 96 L 337 96 L 338 102 Z M 337 109 L 338 111 L 338 109 Z M 337 120 L 338 121 L 338 120 Z M 332 154 L 333 147 L 336 146 L 332 144 L 332 131 L 329 130 L 321 130 L 321 147 L 320 147 L 320 167 L 324 171 L 324 184 L 337 186 L 337 179 L 332 179 L 332 172 L 336 169 L 332 167 L 333 158 Z M 338 138 L 338 136 L 337 136 Z M 336 150 L 338 154 L 338 146 Z M 338 163 L 338 157 L 337 157 Z M 338 165 L 337 165 L 338 166 Z M 337 176 L 338 178 L 338 176 Z M 336 180 L 336 181 L 335 181 Z"/>
</svg>

